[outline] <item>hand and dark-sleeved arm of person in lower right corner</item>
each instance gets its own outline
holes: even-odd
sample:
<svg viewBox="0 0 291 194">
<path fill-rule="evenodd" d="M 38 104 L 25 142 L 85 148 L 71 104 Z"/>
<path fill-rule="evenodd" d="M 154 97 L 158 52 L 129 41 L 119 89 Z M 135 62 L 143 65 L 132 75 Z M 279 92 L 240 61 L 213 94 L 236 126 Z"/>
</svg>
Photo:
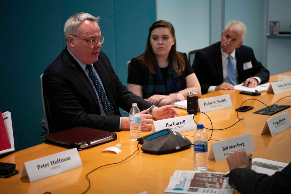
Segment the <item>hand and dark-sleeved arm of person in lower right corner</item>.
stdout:
<svg viewBox="0 0 291 194">
<path fill-rule="evenodd" d="M 282 171 L 268 176 L 251 170 L 252 161 L 245 151 L 230 154 L 226 161 L 230 170 L 229 184 L 243 194 L 291 193 L 291 163 Z"/>
</svg>

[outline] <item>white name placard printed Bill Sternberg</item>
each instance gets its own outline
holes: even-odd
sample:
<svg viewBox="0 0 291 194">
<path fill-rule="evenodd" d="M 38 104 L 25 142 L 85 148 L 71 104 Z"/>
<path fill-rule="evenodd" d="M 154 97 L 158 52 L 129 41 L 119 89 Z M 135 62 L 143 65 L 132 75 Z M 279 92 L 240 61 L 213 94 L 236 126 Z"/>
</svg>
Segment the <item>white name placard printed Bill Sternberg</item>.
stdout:
<svg viewBox="0 0 291 194">
<path fill-rule="evenodd" d="M 208 159 L 215 158 L 215 161 L 218 162 L 236 151 L 246 151 L 247 153 L 255 151 L 250 133 L 212 143 Z"/>
</svg>

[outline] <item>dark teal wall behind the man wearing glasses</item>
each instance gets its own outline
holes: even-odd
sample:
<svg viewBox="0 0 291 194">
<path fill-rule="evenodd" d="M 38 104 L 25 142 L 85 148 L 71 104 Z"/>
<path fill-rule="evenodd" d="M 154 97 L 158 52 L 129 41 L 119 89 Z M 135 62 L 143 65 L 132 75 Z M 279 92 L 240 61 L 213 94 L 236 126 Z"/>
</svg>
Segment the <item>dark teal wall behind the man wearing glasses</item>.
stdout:
<svg viewBox="0 0 291 194">
<path fill-rule="evenodd" d="M 156 1 L 2 1 L 0 12 L 0 111 L 12 108 L 18 150 L 41 143 L 43 117 L 39 76 L 65 48 L 63 26 L 70 15 L 100 16 L 102 51 L 126 84 L 126 62 L 144 51 Z"/>
</svg>

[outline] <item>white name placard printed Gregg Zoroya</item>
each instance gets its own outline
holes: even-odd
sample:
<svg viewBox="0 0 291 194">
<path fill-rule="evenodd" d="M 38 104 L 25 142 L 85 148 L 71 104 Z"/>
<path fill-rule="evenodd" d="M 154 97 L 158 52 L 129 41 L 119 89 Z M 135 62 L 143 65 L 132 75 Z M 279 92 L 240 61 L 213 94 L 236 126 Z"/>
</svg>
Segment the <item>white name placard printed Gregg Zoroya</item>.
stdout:
<svg viewBox="0 0 291 194">
<path fill-rule="evenodd" d="M 267 120 L 261 135 L 270 131 L 271 135 L 274 136 L 290 127 L 290 116 L 288 112 L 284 112 L 278 116 L 273 117 L 272 119 Z"/>
</svg>

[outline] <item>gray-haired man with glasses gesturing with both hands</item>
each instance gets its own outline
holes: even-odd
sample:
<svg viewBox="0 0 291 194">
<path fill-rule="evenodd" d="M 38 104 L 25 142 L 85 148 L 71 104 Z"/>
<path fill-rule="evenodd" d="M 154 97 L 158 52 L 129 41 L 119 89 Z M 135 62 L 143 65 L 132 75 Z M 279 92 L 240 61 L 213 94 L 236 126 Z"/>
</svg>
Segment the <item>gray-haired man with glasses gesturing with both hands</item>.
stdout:
<svg viewBox="0 0 291 194">
<path fill-rule="evenodd" d="M 153 118 L 176 117 L 178 111 L 172 105 L 153 106 L 121 83 L 109 59 L 100 51 L 104 38 L 98 21 L 99 17 L 76 13 L 65 22 L 67 46 L 43 75 L 49 132 L 75 126 L 106 131 L 129 129 L 129 117 L 121 117 L 119 107 L 129 112 L 132 103 L 143 110 L 144 131 L 151 129 Z"/>
</svg>

